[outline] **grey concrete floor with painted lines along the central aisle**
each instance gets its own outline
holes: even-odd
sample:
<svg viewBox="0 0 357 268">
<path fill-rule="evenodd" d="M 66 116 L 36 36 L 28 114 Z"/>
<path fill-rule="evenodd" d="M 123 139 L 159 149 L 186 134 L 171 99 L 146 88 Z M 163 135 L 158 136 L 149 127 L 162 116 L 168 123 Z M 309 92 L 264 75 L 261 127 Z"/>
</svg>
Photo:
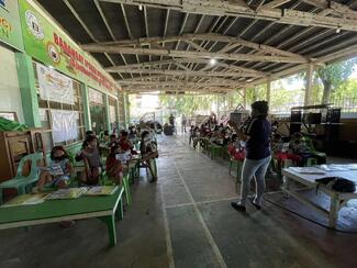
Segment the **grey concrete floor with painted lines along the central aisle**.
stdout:
<svg viewBox="0 0 357 268">
<path fill-rule="evenodd" d="M 227 164 L 189 148 L 182 137 L 159 138 L 158 181 L 146 174 L 132 188 L 133 205 L 108 247 L 100 221 L 0 231 L 0 267 L 357 267 L 357 235 L 336 233 L 265 202 L 242 214 Z M 269 185 L 269 183 L 268 183 Z M 324 223 L 279 193 L 267 199 Z M 357 204 L 339 226 L 357 231 Z"/>
</svg>

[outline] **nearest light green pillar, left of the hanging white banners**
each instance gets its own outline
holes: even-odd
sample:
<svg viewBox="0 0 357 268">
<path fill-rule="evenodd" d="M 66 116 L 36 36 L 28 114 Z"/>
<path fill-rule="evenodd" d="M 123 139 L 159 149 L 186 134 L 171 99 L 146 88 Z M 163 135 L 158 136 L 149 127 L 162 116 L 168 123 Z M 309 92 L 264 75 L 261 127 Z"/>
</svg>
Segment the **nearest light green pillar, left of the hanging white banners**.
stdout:
<svg viewBox="0 0 357 268">
<path fill-rule="evenodd" d="M 15 53 L 15 59 L 25 124 L 31 127 L 41 127 L 37 89 L 32 58 L 24 53 Z"/>
</svg>

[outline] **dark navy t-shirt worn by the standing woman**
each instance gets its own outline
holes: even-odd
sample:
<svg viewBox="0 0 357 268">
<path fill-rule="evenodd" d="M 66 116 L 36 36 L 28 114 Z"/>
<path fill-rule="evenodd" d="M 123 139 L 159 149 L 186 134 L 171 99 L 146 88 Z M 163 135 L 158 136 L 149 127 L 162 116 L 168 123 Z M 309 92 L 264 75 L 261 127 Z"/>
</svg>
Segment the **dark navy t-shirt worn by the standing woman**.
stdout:
<svg viewBox="0 0 357 268">
<path fill-rule="evenodd" d="M 258 160 L 271 155 L 271 125 L 265 116 L 254 118 L 245 132 L 250 138 L 247 141 L 247 159 Z"/>
</svg>

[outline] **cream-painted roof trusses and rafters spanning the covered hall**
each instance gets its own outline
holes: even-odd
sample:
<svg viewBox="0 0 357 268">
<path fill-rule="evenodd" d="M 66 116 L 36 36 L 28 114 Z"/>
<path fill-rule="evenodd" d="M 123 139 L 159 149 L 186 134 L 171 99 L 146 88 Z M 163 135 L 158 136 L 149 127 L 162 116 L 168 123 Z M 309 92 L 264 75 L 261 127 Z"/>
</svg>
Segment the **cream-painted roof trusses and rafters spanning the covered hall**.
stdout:
<svg viewBox="0 0 357 268">
<path fill-rule="evenodd" d="M 38 1 L 51 4 L 51 0 Z M 83 0 L 62 1 L 68 8 L 65 11 L 79 22 L 78 32 L 85 32 L 92 43 L 87 43 L 87 35 L 86 42 L 77 41 L 98 56 L 107 71 L 118 74 L 115 79 L 121 78 L 119 83 L 130 90 L 134 90 L 130 86 L 147 86 L 150 90 L 221 92 L 224 87 L 255 85 L 303 69 L 310 63 L 321 64 L 324 59 L 320 55 L 338 56 L 346 45 L 357 44 L 357 35 L 353 35 L 357 31 L 357 0 L 345 4 L 331 0 L 92 0 L 93 10 L 86 10 L 97 12 L 102 23 L 83 15 L 78 8 Z M 114 26 L 116 20 L 103 2 L 118 3 L 121 25 Z M 130 7 L 140 4 L 138 13 Z M 140 14 L 141 20 L 133 21 L 133 14 Z M 161 14 L 159 31 L 153 14 Z M 94 24 L 102 25 L 101 33 Z M 269 36 L 272 25 L 278 31 Z M 238 36 L 233 36 L 236 30 Z M 69 33 L 74 34 L 70 30 Z M 150 33 L 158 36 L 149 36 Z M 118 58 L 121 64 L 113 60 L 115 54 L 122 58 Z M 210 64 L 212 58 L 217 62 Z"/>
</svg>

